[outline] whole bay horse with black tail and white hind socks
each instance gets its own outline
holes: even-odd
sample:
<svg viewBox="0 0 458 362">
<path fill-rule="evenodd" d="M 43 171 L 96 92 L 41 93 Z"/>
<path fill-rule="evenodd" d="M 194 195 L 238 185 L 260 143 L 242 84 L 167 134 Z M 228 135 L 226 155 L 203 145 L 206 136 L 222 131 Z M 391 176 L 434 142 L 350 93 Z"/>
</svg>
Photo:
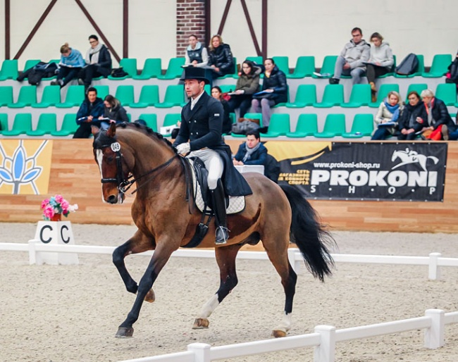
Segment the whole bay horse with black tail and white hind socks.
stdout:
<svg viewBox="0 0 458 362">
<path fill-rule="evenodd" d="M 113 263 L 128 292 L 137 294 L 127 318 L 116 337 L 132 337 L 143 301 L 154 301 L 153 283 L 173 251 L 190 242 L 202 213 L 187 201 L 187 161 L 172 144 L 149 127 L 135 123 L 110 125 L 106 131 L 93 128 L 94 158 L 99 165 L 102 196 L 109 204 L 122 204 L 127 189 L 135 183 L 136 197 L 132 219 L 138 230 L 113 251 Z M 215 245 L 215 225 L 198 247 L 215 247 L 220 270 L 220 287 L 204 304 L 194 329 L 209 326 L 209 316 L 237 285 L 235 258 L 245 244 L 262 242 L 269 260 L 280 275 L 285 291 L 283 320 L 273 329 L 274 337 L 284 337 L 291 327 L 292 301 L 297 275 L 290 266 L 287 249 L 297 244 L 310 272 L 323 281 L 332 273 L 333 258 L 328 246 L 334 240 L 309 202 L 289 185 L 278 186 L 259 173 L 244 173 L 252 188 L 245 209 L 228 215 L 230 239 Z M 132 279 L 125 267 L 129 254 L 154 250 L 140 282 Z"/>
</svg>

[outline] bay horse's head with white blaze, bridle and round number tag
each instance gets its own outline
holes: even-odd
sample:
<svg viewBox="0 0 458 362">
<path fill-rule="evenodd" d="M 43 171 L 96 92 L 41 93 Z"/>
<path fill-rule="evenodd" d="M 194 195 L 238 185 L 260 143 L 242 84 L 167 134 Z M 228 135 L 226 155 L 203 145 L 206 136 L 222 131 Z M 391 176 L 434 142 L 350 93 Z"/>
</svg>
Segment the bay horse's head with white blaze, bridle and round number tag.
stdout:
<svg viewBox="0 0 458 362">
<path fill-rule="evenodd" d="M 116 137 L 116 124 L 111 123 L 106 131 L 92 127 L 92 134 L 94 159 L 101 175 L 102 199 L 109 204 L 122 204 L 131 168 Z"/>
</svg>

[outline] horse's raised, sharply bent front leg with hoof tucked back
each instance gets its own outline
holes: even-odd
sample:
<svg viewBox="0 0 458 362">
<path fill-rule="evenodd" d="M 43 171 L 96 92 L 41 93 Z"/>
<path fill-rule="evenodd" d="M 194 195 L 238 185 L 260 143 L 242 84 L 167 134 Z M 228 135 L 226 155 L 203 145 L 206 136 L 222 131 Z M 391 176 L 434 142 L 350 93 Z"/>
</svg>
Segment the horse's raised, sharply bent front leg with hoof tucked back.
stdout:
<svg viewBox="0 0 458 362">
<path fill-rule="evenodd" d="M 137 230 L 133 237 L 113 251 L 113 264 L 116 266 L 116 269 L 118 269 L 118 273 L 124 282 L 125 289 L 127 289 L 128 292 L 136 294 L 138 285 L 137 282 L 132 279 L 130 273 L 125 267 L 125 257 L 129 254 L 142 253 L 143 251 L 151 249 L 154 249 L 154 242 L 151 242 L 151 238 Z M 149 301 L 150 303 L 154 301 L 153 289 L 149 290 L 144 300 Z"/>
</svg>

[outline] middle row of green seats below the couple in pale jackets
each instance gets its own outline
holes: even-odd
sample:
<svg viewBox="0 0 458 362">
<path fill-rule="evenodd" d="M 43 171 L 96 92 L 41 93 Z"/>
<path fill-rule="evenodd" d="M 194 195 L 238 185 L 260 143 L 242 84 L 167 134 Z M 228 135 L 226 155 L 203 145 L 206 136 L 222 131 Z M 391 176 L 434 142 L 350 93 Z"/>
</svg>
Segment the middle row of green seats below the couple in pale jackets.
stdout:
<svg viewBox="0 0 458 362">
<path fill-rule="evenodd" d="M 407 89 L 407 94 L 411 91 L 416 91 L 421 94 L 421 91 L 428 89 L 426 83 L 412 83 Z M 296 91 L 295 101 L 285 104 L 287 108 L 304 108 L 305 106 L 313 106 L 316 108 L 330 108 L 340 106 L 343 108 L 357 108 L 361 106 L 369 106 L 376 108 L 385 99 L 388 92 L 400 92 L 399 85 L 383 84 L 377 92 L 377 101 L 371 101 L 371 86 L 370 85 L 353 85 L 352 92 L 349 96 L 349 101 L 344 101 L 343 85 L 326 85 L 323 92 L 321 102 L 316 101 L 316 85 L 299 85 Z M 458 106 L 457 102 L 457 87 L 454 84 L 441 83 L 435 89 L 435 96 L 442 99 L 447 106 Z"/>
</svg>

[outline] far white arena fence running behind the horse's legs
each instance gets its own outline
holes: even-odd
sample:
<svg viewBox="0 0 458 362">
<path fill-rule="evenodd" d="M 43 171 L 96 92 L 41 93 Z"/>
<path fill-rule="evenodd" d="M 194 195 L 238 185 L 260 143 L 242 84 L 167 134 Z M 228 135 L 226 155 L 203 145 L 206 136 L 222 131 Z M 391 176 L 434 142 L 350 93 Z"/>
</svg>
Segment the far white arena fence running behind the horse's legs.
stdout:
<svg viewBox="0 0 458 362">
<path fill-rule="evenodd" d="M 0 251 L 28 251 L 30 264 L 43 264 L 42 253 L 70 253 L 70 254 L 113 254 L 115 246 L 89 246 L 67 244 L 44 244 L 38 239 L 29 240 L 28 244 L 0 243 Z M 140 254 L 152 256 L 154 251 Z M 440 267 L 458 266 L 458 258 L 442 258 L 440 253 L 431 253 L 429 256 L 393 256 L 393 255 L 362 255 L 362 254 L 331 254 L 336 263 L 369 263 L 369 264 L 397 264 L 411 266 L 428 266 L 428 278 L 440 279 Z M 214 250 L 178 249 L 172 256 L 215 258 Z M 304 268 L 304 259 L 299 249 L 288 249 L 288 258 L 292 268 L 299 272 Z M 268 260 L 265 251 L 239 251 L 237 259 Z"/>
</svg>

